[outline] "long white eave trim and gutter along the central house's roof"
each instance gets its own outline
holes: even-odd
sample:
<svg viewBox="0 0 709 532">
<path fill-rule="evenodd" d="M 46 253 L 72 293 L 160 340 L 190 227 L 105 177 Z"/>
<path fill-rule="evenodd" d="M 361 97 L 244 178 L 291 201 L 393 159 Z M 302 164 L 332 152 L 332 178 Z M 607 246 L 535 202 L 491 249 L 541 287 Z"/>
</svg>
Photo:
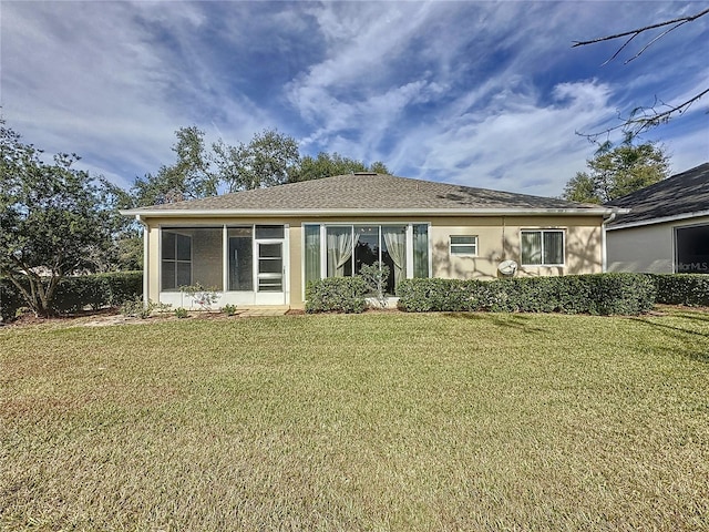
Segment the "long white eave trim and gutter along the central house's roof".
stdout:
<svg viewBox="0 0 709 532">
<path fill-rule="evenodd" d="M 129 209 L 120 211 L 125 216 L 152 216 L 152 217 L 279 217 L 279 216 L 494 216 L 494 215 L 515 215 L 515 216 L 609 216 L 613 213 L 627 214 L 627 208 L 307 208 L 307 209 L 243 209 L 243 208 L 214 208 L 214 209 Z"/>
</svg>

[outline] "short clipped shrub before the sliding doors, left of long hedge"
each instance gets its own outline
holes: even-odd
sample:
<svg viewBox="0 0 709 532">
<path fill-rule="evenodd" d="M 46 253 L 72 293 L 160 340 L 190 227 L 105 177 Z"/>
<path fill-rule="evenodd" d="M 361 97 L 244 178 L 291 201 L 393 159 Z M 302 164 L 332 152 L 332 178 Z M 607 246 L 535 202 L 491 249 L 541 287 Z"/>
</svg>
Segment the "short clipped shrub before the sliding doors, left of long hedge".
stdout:
<svg viewBox="0 0 709 532">
<path fill-rule="evenodd" d="M 359 276 L 329 277 L 308 283 L 307 313 L 359 314 L 367 308 L 367 283 Z"/>
</svg>

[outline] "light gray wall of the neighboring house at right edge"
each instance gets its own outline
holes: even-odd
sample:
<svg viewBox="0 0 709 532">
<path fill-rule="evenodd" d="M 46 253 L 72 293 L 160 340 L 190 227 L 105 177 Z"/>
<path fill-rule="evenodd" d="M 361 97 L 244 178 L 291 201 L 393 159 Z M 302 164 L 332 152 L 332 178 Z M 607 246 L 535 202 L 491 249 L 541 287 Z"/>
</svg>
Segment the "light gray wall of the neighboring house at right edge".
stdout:
<svg viewBox="0 0 709 532">
<path fill-rule="evenodd" d="M 675 228 L 700 224 L 709 224 L 709 216 L 608 229 L 608 272 L 675 273 Z"/>
</svg>

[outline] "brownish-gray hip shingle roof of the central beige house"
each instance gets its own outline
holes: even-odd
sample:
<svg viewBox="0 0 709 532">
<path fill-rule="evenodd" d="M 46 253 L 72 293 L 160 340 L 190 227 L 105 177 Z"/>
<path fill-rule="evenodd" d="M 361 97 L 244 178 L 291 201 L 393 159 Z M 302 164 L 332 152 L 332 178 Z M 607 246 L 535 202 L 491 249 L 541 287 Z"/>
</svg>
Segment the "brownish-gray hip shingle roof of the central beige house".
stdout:
<svg viewBox="0 0 709 532">
<path fill-rule="evenodd" d="M 461 212 L 461 211 L 559 211 L 587 214 L 608 207 L 565 200 L 473 188 L 392 175 L 354 173 L 236 192 L 189 202 L 135 208 L 124 214 L 177 216 L 210 213 L 337 213 L 337 212 Z"/>
</svg>

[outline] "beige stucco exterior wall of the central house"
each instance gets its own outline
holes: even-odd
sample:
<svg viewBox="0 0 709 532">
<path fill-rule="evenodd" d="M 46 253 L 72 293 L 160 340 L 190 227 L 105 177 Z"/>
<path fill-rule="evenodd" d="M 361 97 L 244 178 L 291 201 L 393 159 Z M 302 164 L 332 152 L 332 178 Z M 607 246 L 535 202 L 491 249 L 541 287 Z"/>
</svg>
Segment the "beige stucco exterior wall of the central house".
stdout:
<svg viewBox="0 0 709 532">
<path fill-rule="evenodd" d="M 253 224 L 287 225 L 285 262 L 288 268 L 286 280 L 287 305 L 302 308 L 302 224 L 430 224 L 429 246 L 431 253 L 431 275 L 443 278 L 499 277 L 497 265 L 504 259 L 516 260 L 518 276 L 547 276 L 567 274 L 599 273 L 603 264 L 600 216 L 399 216 L 399 217 L 290 217 L 290 218 L 151 218 L 146 232 L 147 294 L 161 300 L 160 293 L 160 228 L 199 226 L 244 226 Z M 521 232 L 523 229 L 562 229 L 565 234 L 565 264 L 563 266 L 522 266 Z M 477 236 L 477 255 L 451 256 L 451 235 Z M 165 294 L 163 294 L 165 296 Z M 173 297 L 173 296 L 171 296 Z M 217 303 L 239 303 L 234 293 L 225 293 Z M 163 297 L 164 299 L 164 297 Z"/>
</svg>

